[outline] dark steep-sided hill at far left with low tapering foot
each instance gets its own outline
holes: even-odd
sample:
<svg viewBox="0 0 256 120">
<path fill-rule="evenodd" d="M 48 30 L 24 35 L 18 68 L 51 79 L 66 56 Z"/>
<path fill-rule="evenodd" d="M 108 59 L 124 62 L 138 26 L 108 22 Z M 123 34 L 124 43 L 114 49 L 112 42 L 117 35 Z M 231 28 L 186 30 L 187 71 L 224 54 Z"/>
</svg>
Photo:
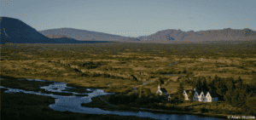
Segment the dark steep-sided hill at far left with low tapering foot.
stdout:
<svg viewBox="0 0 256 120">
<path fill-rule="evenodd" d="M 40 32 L 21 20 L 0 17 L 1 26 L 1 44 L 3 43 L 99 43 L 97 41 L 80 42 L 73 38 L 61 37 L 61 38 L 49 38 L 45 37 Z M 101 43 L 105 43 L 102 41 Z"/>
</svg>

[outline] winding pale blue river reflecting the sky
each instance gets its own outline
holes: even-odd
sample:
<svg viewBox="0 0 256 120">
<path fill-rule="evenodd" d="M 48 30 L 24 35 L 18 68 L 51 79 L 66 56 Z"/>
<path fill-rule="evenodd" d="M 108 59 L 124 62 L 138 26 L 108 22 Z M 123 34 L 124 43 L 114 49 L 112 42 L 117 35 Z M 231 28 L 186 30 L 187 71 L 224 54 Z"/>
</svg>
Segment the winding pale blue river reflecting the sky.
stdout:
<svg viewBox="0 0 256 120">
<path fill-rule="evenodd" d="M 1 78 L 1 80 L 3 79 Z M 28 80 L 47 82 L 47 81 L 38 80 L 38 79 L 28 79 Z M 0 88 L 9 89 L 3 86 L 0 86 Z M 51 92 L 72 93 L 73 95 L 64 96 L 64 95 L 55 95 L 55 94 L 44 94 L 44 93 L 41 93 L 40 91 L 34 92 L 34 91 L 26 91 L 23 89 L 9 89 L 9 90 L 6 90 L 5 93 L 23 92 L 26 94 L 38 94 L 38 95 L 51 96 L 55 98 L 55 104 L 51 104 L 49 105 L 49 107 L 55 111 L 73 111 L 73 112 L 88 113 L 88 114 L 114 114 L 119 116 L 150 117 L 150 118 L 161 119 L 161 120 L 166 120 L 167 118 L 172 120 L 177 120 L 177 119 L 192 119 L 192 120 L 193 119 L 207 119 L 207 120 L 218 119 L 219 120 L 219 118 L 214 118 L 214 117 L 197 117 L 197 116 L 191 116 L 191 115 L 180 116 L 180 115 L 174 115 L 174 114 L 172 115 L 154 114 L 152 112 L 147 112 L 147 111 L 137 111 L 137 112 L 104 111 L 99 108 L 90 108 L 90 107 L 81 106 L 82 103 L 89 103 L 91 101 L 90 98 L 92 97 L 110 94 L 110 93 L 105 93 L 104 89 L 86 89 L 88 91 L 93 91 L 92 93 L 84 93 L 84 94 L 88 94 L 88 96 L 75 96 L 74 94 L 78 94 L 78 93 L 62 91 L 66 89 L 74 89 L 72 87 L 67 87 L 67 83 L 55 82 L 53 84 L 50 84 L 49 86 L 40 87 L 40 89 L 45 89 Z"/>
</svg>

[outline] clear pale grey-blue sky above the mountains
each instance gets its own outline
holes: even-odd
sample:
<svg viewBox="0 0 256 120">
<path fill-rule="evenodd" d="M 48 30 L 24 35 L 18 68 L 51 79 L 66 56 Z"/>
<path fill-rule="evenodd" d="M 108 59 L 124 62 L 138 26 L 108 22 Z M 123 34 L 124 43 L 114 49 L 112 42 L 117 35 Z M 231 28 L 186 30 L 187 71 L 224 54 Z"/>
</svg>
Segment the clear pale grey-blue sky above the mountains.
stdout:
<svg viewBox="0 0 256 120">
<path fill-rule="evenodd" d="M 22 20 L 37 31 L 67 27 L 139 37 L 167 29 L 255 31 L 255 4 L 256 0 L 8 0 L 1 1 L 0 16 Z"/>
</svg>

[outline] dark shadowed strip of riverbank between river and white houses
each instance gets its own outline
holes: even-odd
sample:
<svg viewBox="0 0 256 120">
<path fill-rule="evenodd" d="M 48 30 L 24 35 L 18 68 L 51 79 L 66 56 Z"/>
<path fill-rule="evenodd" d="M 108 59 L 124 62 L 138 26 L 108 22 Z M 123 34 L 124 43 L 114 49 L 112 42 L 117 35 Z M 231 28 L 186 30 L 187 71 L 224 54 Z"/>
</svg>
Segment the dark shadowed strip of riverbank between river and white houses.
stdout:
<svg viewBox="0 0 256 120">
<path fill-rule="evenodd" d="M 94 98 L 91 98 L 91 102 L 87 104 L 82 104 L 81 106 L 84 107 L 96 107 L 100 108 L 105 111 L 131 111 L 131 112 L 137 112 L 137 111 L 149 111 L 152 113 L 156 114 L 177 114 L 177 115 L 193 115 L 193 116 L 199 116 L 199 117 L 217 117 L 217 118 L 222 118 L 222 119 L 227 119 L 228 116 L 232 115 L 227 115 L 227 114 L 212 114 L 212 112 L 204 112 L 200 113 L 199 111 L 193 111 L 191 109 L 184 109 L 185 111 L 171 111 L 171 110 L 163 110 L 160 109 L 161 106 L 137 106 L 137 107 L 130 107 L 129 105 L 111 105 L 108 104 L 108 102 L 105 102 L 108 100 L 110 97 L 110 94 L 108 95 L 102 95 L 102 96 L 97 96 Z M 144 108 L 144 109 L 142 109 Z M 234 115 L 233 115 L 234 116 Z"/>
</svg>

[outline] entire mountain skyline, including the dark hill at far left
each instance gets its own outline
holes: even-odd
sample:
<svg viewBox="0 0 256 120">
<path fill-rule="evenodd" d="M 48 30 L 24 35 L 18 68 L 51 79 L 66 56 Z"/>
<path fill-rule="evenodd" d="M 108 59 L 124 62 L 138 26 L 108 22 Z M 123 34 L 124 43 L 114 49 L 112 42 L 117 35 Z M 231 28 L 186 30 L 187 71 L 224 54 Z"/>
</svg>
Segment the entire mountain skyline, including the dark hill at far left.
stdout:
<svg viewBox="0 0 256 120">
<path fill-rule="evenodd" d="M 182 41 L 226 41 L 228 39 L 256 40 L 256 31 L 245 28 L 242 30 L 224 28 L 210 31 L 163 30 L 149 36 L 122 37 L 97 31 L 73 28 L 58 28 L 36 31 L 21 20 L 0 17 L 1 43 L 88 43 L 95 42 L 182 42 Z"/>
</svg>

